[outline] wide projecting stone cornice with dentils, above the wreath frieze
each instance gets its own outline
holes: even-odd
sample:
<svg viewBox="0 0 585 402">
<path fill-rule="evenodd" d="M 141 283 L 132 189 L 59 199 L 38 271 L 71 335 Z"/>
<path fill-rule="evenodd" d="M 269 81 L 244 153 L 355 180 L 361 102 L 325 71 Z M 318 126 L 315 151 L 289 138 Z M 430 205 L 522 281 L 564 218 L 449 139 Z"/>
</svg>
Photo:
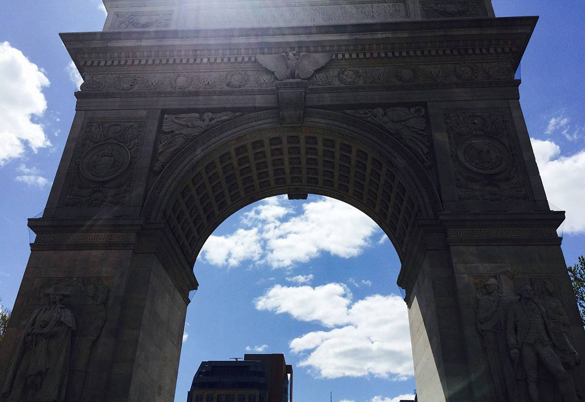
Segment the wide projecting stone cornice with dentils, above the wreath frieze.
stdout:
<svg viewBox="0 0 585 402">
<path fill-rule="evenodd" d="M 535 17 L 433 20 L 275 29 L 63 33 L 61 39 L 82 74 L 115 68 L 241 68 L 256 64 L 256 54 L 288 51 L 333 53 L 332 64 L 510 60 L 515 70 L 535 23 Z"/>
</svg>

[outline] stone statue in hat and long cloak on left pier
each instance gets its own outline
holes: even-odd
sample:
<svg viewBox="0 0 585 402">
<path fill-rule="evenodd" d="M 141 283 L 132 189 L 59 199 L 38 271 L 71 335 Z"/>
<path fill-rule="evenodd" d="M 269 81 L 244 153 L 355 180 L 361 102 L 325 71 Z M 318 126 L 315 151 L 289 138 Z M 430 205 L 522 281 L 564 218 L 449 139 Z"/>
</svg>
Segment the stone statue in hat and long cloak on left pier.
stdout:
<svg viewBox="0 0 585 402">
<path fill-rule="evenodd" d="M 61 304 L 70 293 L 50 287 L 49 303 L 25 321 L 2 386 L 6 402 L 60 402 L 65 398 L 75 319 Z"/>
</svg>

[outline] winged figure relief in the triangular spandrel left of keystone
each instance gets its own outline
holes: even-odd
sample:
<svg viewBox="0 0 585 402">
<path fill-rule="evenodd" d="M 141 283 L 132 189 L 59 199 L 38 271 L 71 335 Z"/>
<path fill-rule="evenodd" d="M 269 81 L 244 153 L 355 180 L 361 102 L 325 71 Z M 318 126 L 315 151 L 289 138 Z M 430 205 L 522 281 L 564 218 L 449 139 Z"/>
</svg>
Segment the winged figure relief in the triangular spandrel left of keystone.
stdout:
<svg viewBox="0 0 585 402">
<path fill-rule="evenodd" d="M 160 172 L 168 161 L 183 148 L 185 144 L 194 140 L 207 129 L 218 126 L 228 120 L 235 119 L 243 113 L 186 113 L 184 115 L 164 115 L 163 133 L 159 144 L 154 171 Z"/>
</svg>

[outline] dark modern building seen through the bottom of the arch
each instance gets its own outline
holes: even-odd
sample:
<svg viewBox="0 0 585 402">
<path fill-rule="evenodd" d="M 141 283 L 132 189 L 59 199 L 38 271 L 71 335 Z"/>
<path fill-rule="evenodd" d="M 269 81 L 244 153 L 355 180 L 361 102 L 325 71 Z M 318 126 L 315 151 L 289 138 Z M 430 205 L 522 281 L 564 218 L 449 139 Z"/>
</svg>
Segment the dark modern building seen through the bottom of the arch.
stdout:
<svg viewBox="0 0 585 402">
<path fill-rule="evenodd" d="M 201 362 L 187 402 L 292 402 L 292 366 L 282 354 Z"/>
</svg>

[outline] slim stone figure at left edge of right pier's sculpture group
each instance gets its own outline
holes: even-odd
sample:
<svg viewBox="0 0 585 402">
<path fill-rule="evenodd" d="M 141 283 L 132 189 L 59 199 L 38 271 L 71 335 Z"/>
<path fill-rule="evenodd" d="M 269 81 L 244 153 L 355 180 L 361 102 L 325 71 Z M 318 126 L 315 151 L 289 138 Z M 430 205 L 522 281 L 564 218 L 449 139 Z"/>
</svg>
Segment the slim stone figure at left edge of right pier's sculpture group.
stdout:
<svg viewBox="0 0 585 402">
<path fill-rule="evenodd" d="M 509 385 L 504 375 L 502 355 L 498 346 L 498 332 L 501 331 L 500 312 L 500 285 L 496 279 L 490 278 L 477 292 L 477 330 L 483 338 L 483 346 L 494 383 L 495 400 L 507 402 Z"/>
</svg>

